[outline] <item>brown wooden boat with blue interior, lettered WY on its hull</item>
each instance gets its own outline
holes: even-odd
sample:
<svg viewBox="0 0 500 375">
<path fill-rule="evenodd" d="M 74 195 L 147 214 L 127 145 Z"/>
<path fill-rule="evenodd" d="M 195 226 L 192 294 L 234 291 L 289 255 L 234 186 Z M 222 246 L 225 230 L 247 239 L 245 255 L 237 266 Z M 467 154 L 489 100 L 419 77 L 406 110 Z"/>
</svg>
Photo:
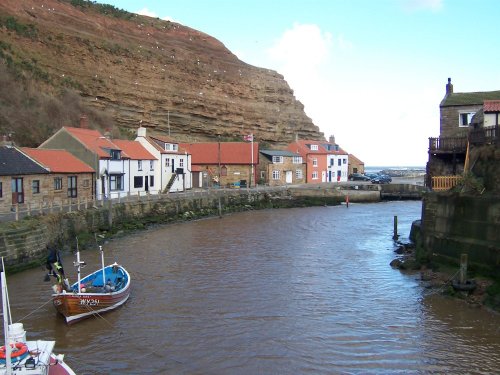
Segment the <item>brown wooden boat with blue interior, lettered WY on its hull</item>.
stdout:
<svg viewBox="0 0 500 375">
<path fill-rule="evenodd" d="M 111 266 L 106 267 L 108 269 Z M 78 288 L 78 284 L 75 283 L 71 286 L 73 292 L 63 291 L 61 293 L 53 294 L 53 304 L 56 310 L 64 316 L 66 323 L 73 324 L 82 319 L 95 316 L 99 317 L 100 314 L 116 309 L 117 307 L 123 305 L 130 296 L 130 276 L 128 272 L 123 268 L 121 275 L 124 276 L 125 284 L 118 291 L 110 292 L 82 292 L 82 288 Z M 81 280 L 82 285 L 92 284 L 97 277 L 100 277 L 98 283 L 99 287 L 94 289 L 103 289 L 102 287 L 102 276 L 101 270 L 94 272 L 83 278 Z M 106 278 L 109 276 L 106 273 Z M 94 281 L 95 282 L 95 281 Z M 89 287 L 90 289 L 90 287 Z M 80 290 L 80 292 L 78 292 Z"/>
</svg>

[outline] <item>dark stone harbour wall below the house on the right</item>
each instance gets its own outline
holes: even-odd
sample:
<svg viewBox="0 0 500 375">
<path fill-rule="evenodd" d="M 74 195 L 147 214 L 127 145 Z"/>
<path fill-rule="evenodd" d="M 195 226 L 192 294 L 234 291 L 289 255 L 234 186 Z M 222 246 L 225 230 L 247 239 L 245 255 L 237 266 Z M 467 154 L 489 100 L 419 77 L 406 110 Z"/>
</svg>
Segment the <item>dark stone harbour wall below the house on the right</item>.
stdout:
<svg viewBox="0 0 500 375">
<path fill-rule="evenodd" d="M 500 273 L 498 196 L 428 193 L 422 206 L 422 245 L 428 257 L 458 263 L 466 253 L 472 267 Z"/>
</svg>

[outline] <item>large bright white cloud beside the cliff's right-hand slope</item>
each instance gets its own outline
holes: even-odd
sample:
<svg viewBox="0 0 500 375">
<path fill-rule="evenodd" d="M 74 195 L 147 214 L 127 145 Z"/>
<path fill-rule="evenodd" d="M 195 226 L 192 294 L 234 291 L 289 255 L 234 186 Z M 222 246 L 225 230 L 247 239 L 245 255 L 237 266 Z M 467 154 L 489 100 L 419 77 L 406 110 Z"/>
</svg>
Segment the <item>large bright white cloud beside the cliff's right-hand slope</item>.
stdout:
<svg viewBox="0 0 500 375">
<path fill-rule="evenodd" d="M 374 61 L 366 52 L 317 25 L 295 24 L 268 50 L 268 57 L 326 138 L 334 135 L 368 166 L 424 165 L 427 137 L 433 134 L 427 127 L 439 118 L 415 111 L 415 103 L 434 109 L 440 98 L 420 103 L 418 78 L 403 84 L 404 71 Z"/>
</svg>

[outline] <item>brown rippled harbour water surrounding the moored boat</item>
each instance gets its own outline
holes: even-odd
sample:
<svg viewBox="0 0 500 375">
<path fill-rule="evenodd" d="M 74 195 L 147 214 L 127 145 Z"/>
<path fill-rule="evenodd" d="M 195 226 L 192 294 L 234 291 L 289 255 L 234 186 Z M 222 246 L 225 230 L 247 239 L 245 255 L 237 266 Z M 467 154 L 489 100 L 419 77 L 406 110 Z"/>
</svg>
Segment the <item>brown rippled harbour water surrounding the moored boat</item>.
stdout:
<svg viewBox="0 0 500 375">
<path fill-rule="evenodd" d="M 67 326 L 42 267 L 8 275 L 14 321 L 78 374 L 493 374 L 500 316 L 389 266 L 421 202 L 263 210 L 107 243 L 129 301 Z M 98 251 L 82 252 L 87 274 Z M 72 254 L 63 262 L 75 280 Z"/>
</svg>

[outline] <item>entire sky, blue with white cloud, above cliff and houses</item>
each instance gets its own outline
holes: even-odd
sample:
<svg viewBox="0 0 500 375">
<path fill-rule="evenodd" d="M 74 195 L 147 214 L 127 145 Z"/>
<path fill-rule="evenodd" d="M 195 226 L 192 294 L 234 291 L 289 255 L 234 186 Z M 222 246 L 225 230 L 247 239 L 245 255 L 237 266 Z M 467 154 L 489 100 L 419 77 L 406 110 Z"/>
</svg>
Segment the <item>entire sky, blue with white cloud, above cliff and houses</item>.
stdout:
<svg viewBox="0 0 500 375">
<path fill-rule="evenodd" d="M 283 74 L 366 166 L 423 166 L 455 92 L 500 90 L 497 0 L 107 0 L 207 33 Z"/>
</svg>

